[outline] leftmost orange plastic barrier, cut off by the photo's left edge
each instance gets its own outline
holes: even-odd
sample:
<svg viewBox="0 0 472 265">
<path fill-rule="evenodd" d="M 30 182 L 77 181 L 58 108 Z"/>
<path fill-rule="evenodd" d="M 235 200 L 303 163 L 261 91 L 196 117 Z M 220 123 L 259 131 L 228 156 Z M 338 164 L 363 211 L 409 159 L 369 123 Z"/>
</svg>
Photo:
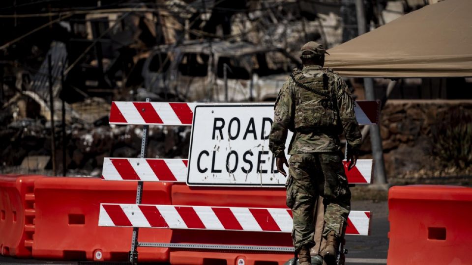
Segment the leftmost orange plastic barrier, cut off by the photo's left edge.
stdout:
<svg viewBox="0 0 472 265">
<path fill-rule="evenodd" d="M 42 176 L 0 176 L 0 254 L 31 257 L 34 182 Z"/>
</svg>

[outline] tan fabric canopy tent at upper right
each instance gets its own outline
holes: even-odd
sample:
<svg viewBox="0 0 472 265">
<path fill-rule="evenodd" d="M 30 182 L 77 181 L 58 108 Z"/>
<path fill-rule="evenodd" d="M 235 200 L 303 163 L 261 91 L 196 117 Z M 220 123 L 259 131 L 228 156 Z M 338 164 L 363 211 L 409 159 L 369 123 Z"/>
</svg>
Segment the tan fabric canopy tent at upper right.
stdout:
<svg viewBox="0 0 472 265">
<path fill-rule="evenodd" d="M 472 77 L 472 0 L 444 0 L 336 46 L 345 77 Z"/>
</svg>

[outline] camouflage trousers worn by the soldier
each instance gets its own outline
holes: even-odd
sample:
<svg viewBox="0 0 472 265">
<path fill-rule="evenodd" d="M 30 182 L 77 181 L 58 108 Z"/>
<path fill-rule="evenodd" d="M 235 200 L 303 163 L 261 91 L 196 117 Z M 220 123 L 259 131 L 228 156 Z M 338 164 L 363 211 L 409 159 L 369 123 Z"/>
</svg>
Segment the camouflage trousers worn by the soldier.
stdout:
<svg viewBox="0 0 472 265">
<path fill-rule="evenodd" d="M 304 153 L 289 159 L 287 206 L 292 209 L 295 249 L 315 245 L 314 213 L 319 195 L 324 204 L 324 238 L 330 231 L 343 237 L 349 212 L 351 191 L 342 164 L 341 152 Z"/>
</svg>

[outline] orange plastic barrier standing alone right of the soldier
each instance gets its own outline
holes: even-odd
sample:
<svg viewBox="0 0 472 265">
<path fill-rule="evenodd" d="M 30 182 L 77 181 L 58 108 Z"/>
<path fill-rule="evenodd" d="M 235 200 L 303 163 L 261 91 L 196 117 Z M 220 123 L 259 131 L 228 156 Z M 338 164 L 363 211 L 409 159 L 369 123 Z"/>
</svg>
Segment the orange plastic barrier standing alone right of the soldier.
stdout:
<svg viewBox="0 0 472 265">
<path fill-rule="evenodd" d="M 471 264 L 472 188 L 394 186 L 388 210 L 387 264 Z"/>
</svg>

